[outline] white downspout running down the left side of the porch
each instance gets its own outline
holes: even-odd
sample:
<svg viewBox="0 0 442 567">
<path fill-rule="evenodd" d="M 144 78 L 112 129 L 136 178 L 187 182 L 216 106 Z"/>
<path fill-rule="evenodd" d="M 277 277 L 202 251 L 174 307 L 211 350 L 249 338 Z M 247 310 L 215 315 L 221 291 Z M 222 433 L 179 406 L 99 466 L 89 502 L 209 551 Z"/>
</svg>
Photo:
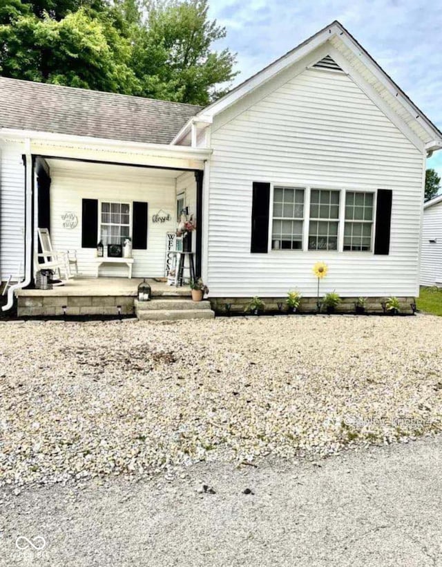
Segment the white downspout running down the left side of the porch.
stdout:
<svg viewBox="0 0 442 567">
<path fill-rule="evenodd" d="M 8 302 L 3 305 L 2 310 L 8 311 L 14 305 L 14 292 L 28 286 L 32 279 L 32 186 L 34 184 L 34 167 L 30 153 L 30 139 L 25 142 L 25 154 L 23 155 L 25 166 L 25 279 L 15 283 L 8 289 Z"/>
</svg>

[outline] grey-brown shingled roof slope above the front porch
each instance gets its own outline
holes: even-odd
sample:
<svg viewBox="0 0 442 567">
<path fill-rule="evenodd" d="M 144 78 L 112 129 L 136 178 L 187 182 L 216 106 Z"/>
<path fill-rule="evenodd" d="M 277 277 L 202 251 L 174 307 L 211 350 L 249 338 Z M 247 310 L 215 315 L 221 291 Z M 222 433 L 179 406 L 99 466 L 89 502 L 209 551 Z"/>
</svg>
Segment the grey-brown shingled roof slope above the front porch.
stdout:
<svg viewBox="0 0 442 567">
<path fill-rule="evenodd" d="M 0 127 L 169 144 L 193 104 L 0 77 Z"/>
</svg>

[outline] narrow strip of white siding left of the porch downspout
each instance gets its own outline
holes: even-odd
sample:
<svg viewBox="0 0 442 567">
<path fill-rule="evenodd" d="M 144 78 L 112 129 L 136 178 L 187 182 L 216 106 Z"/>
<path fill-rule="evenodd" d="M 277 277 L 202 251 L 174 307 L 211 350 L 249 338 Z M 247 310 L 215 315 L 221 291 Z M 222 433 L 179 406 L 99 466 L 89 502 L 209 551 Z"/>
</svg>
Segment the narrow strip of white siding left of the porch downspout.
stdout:
<svg viewBox="0 0 442 567">
<path fill-rule="evenodd" d="M 20 147 L 0 148 L 0 280 L 24 273 L 25 168 Z"/>
</svg>

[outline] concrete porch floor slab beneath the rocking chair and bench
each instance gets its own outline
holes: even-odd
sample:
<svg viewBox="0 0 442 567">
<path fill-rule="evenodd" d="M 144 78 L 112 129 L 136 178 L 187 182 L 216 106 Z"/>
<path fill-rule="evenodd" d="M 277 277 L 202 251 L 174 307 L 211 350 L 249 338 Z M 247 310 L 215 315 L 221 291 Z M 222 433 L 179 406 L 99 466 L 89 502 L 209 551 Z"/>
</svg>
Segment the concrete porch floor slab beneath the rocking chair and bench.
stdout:
<svg viewBox="0 0 442 567">
<path fill-rule="evenodd" d="M 66 281 L 64 286 L 55 286 L 52 290 L 17 290 L 17 297 L 136 297 L 138 285 L 142 278 L 123 277 L 77 277 Z M 191 290 L 188 286 L 175 288 L 168 286 L 165 281 L 146 278 L 151 286 L 153 297 L 189 297 Z"/>
</svg>

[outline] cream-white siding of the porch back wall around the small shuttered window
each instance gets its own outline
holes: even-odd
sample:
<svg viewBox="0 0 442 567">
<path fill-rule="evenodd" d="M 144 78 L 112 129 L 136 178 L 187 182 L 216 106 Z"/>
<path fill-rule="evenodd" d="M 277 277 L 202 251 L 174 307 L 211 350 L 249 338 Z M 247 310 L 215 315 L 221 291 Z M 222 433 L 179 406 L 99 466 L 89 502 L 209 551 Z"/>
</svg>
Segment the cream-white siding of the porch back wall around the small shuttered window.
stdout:
<svg viewBox="0 0 442 567">
<path fill-rule="evenodd" d="M 148 174 L 138 177 L 124 173 L 120 177 L 106 176 L 87 178 L 72 176 L 65 172 L 51 170 L 50 187 L 51 238 L 55 249 L 77 250 L 79 272 L 84 276 L 95 275 L 96 251 L 93 248 L 81 248 L 81 199 L 95 198 L 103 201 L 148 203 L 147 250 L 133 250 L 133 277 L 163 277 L 166 254 L 166 232 L 175 229 L 175 178 Z M 153 214 L 164 210 L 171 214 L 171 221 L 153 223 Z M 63 227 L 61 215 L 74 212 L 78 225 L 69 230 Z M 126 266 L 106 264 L 100 267 L 103 276 L 127 276 Z"/>
</svg>

